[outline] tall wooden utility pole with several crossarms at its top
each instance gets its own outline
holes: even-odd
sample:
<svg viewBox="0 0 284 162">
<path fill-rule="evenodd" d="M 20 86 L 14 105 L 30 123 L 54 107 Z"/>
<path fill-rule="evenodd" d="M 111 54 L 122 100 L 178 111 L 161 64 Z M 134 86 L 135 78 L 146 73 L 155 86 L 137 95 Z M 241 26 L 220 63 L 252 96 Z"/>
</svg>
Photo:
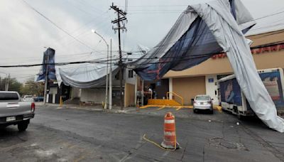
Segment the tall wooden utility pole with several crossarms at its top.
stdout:
<svg viewBox="0 0 284 162">
<path fill-rule="evenodd" d="M 121 21 L 125 21 L 126 20 L 126 12 L 122 11 L 121 9 L 119 9 L 119 7 L 114 6 L 114 3 L 112 3 L 111 5 L 111 9 L 114 9 L 114 11 L 116 11 L 117 13 L 117 19 L 114 21 L 111 21 L 111 23 L 116 23 L 117 24 L 117 28 L 114 28 L 114 31 L 119 31 L 119 80 L 120 80 L 120 107 L 121 110 L 124 109 L 123 106 L 123 97 L 122 97 L 122 68 L 123 68 L 123 64 L 122 64 L 122 55 L 121 55 L 121 40 L 120 40 L 120 31 L 124 31 L 124 29 L 126 30 L 125 26 L 121 26 L 120 22 Z"/>
</svg>

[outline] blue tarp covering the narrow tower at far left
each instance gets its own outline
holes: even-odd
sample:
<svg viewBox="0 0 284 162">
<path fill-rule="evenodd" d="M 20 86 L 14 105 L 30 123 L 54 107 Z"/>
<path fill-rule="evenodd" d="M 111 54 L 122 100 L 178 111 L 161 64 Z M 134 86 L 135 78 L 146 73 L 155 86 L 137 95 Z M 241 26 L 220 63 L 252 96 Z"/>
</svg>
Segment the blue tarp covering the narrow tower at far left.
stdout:
<svg viewBox="0 0 284 162">
<path fill-rule="evenodd" d="M 48 48 L 43 53 L 43 65 L 38 73 L 37 82 L 45 81 L 46 64 L 48 64 L 48 80 L 56 80 L 55 75 L 55 50 L 53 48 Z"/>
</svg>

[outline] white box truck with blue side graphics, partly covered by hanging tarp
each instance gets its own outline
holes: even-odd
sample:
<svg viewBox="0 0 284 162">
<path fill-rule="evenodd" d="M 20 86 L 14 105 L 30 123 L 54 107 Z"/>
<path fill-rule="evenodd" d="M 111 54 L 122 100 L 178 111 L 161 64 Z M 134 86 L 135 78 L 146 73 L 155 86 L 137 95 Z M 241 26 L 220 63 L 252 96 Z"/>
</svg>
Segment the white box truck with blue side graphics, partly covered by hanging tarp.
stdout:
<svg viewBox="0 0 284 162">
<path fill-rule="evenodd" d="M 271 99 L 275 104 L 278 112 L 284 110 L 283 98 L 283 69 L 273 68 L 266 70 L 258 70 L 258 74 L 263 81 L 263 85 L 268 90 Z M 223 110 L 238 115 L 239 118 L 244 116 L 255 115 L 251 109 L 249 102 L 246 100 L 244 93 L 241 92 L 235 75 L 229 75 L 218 80 L 219 83 L 219 103 Z"/>
</svg>

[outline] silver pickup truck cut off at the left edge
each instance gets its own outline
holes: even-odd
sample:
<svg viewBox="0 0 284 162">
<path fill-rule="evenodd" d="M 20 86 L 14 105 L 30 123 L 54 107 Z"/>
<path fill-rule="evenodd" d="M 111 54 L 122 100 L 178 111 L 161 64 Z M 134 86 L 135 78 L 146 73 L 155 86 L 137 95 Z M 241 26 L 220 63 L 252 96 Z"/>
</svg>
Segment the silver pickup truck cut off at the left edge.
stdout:
<svg viewBox="0 0 284 162">
<path fill-rule="evenodd" d="M 22 102 L 18 92 L 0 91 L 1 128 L 17 124 L 19 131 L 26 131 L 30 119 L 34 116 L 34 102 Z"/>
</svg>

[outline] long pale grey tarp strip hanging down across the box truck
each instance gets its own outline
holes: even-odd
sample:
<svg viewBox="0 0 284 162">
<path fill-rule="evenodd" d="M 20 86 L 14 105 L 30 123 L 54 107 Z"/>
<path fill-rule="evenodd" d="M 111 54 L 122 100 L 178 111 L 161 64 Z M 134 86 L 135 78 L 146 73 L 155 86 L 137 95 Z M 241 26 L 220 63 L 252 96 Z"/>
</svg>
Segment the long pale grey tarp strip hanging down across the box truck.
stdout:
<svg viewBox="0 0 284 162">
<path fill-rule="evenodd" d="M 192 6 L 207 23 L 219 45 L 226 51 L 241 90 L 256 115 L 271 129 L 284 132 L 284 119 L 276 108 L 256 70 L 249 45 L 226 1 L 212 1 Z"/>
</svg>

